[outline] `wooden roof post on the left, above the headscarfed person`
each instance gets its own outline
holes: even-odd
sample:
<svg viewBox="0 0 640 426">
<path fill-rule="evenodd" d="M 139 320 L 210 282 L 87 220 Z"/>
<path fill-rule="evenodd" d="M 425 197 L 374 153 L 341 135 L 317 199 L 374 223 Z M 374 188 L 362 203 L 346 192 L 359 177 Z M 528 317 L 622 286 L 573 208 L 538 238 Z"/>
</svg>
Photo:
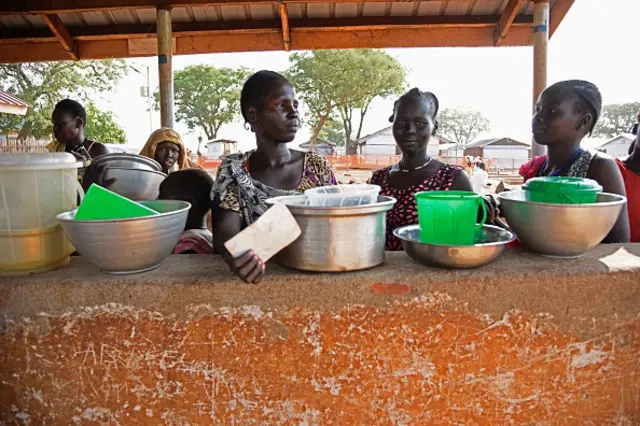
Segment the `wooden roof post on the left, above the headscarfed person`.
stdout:
<svg viewBox="0 0 640 426">
<path fill-rule="evenodd" d="M 162 127 L 173 128 L 173 37 L 171 31 L 171 8 L 156 10 L 158 31 L 158 74 L 160 81 L 160 122 Z"/>
</svg>

